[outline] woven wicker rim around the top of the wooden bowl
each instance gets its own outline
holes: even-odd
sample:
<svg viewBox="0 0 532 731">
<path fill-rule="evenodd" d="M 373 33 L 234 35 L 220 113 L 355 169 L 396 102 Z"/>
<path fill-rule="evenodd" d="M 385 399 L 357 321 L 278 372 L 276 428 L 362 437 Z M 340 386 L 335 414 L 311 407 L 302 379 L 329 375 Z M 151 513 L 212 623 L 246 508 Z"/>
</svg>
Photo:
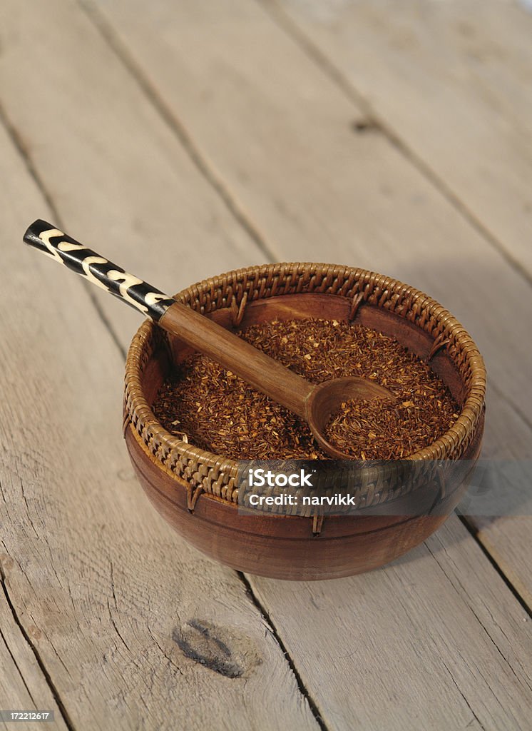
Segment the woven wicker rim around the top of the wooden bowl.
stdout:
<svg viewBox="0 0 532 731">
<path fill-rule="evenodd" d="M 259 289 L 254 288 L 255 283 L 260 284 Z M 294 287 L 297 291 L 292 291 Z M 458 419 L 435 442 L 404 459 L 442 461 L 458 458 L 471 441 L 484 407 L 485 365 L 479 349 L 460 322 L 419 289 L 361 268 L 321 262 L 278 262 L 229 270 L 203 279 L 177 292 L 174 299 L 193 306 L 202 314 L 232 307 L 242 319 L 247 302 L 252 300 L 312 292 L 347 298 L 356 298 L 358 295 L 364 303 L 395 312 L 431 335 L 435 332 L 434 340 L 439 338 L 447 344 L 457 368 L 460 356 L 462 368 L 469 371 L 469 383 Z M 147 357 L 147 349 L 150 349 L 155 333 L 164 336 L 163 331 L 147 319 L 136 331 L 129 346 L 125 376 L 125 420 L 131 422 L 148 450 L 175 477 L 193 483 L 200 491 L 234 503 L 238 492 L 235 485 L 238 462 L 183 442 L 166 431 L 144 397 L 141 386 L 143 360 L 149 360 L 151 353 Z M 452 357 L 453 352 L 456 359 Z"/>
</svg>

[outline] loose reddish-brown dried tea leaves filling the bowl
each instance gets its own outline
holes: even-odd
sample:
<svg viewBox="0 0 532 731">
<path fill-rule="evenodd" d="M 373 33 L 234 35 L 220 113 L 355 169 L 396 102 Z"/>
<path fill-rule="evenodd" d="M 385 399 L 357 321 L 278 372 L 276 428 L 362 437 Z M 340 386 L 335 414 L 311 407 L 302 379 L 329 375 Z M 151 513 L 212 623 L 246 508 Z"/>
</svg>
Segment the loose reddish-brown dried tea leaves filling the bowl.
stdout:
<svg viewBox="0 0 532 731">
<path fill-rule="evenodd" d="M 242 338 L 313 383 L 362 376 L 396 401 L 347 401 L 326 436 L 357 459 L 403 458 L 434 442 L 458 406 L 430 366 L 363 325 L 304 319 L 252 325 Z M 164 382 L 153 411 L 189 444 L 232 459 L 327 458 L 307 423 L 204 355 Z"/>
</svg>

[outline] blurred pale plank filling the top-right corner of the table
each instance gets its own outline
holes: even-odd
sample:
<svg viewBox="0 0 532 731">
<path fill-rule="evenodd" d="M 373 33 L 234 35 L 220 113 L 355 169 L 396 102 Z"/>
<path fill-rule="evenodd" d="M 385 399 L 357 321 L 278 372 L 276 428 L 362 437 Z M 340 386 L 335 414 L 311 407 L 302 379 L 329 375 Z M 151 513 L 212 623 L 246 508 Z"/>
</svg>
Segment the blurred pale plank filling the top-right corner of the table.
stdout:
<svg viewBox="0 0 532 731">
<path fill-rule="evenodd" d="M 264 0 L 528 273 L 532 13 L 519 2 Z M 285 16 L 286 21 L 286 16 Z M 304 39 L 301 39 L 305 42 Z"/>
</svg>

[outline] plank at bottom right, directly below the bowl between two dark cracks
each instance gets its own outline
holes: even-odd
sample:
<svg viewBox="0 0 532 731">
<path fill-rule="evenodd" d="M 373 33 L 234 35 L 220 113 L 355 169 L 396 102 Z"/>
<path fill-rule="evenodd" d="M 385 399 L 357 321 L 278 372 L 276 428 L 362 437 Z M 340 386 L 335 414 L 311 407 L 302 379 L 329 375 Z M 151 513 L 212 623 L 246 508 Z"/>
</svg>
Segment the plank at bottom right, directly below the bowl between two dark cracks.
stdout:
<svg viewBox="0 0 532 731">
<path fill-rule="evenodd" d="M 484 558 L 450 518 L 371 574 L 251 583 L 304 683 L 319 682 L 317 707 L 332 728 L 523 730 L 532 711 L 530 618 Z M 312 654 L 288 602 L 305 607 L 307 632 L 319 638 Z"/>
</svg>

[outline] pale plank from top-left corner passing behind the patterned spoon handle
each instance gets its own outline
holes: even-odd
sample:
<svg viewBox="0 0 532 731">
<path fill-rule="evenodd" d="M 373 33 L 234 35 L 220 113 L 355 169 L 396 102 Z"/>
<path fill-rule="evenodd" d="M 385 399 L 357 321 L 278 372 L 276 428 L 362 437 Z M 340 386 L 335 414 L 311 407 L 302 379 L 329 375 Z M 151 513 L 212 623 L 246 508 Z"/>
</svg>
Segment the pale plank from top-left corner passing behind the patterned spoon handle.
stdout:
<svg viewBox="0 0 532 731">
<path fill-rule="evenodd" d="M 2 13 L 4 113 L 60 213 L 53 224 L 163 292 L 264 260 L 75 3 L 8 0 Z M 90 297 L 126 344 L 139 314 Z"/>
</svg>

